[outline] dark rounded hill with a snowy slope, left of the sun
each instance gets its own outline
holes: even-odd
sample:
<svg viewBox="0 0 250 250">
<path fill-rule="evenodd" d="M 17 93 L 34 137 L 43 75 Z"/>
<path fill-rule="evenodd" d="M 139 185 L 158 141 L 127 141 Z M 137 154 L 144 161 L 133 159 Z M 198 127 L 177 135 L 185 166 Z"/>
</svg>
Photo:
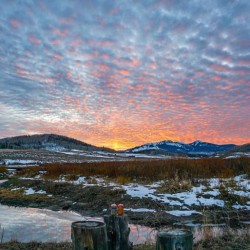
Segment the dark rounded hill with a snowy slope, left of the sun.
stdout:
<svg viewBox="0 0 250 250">
<path fill-rule="evenodd" d="M 0 149 L 44 149 L 51 151 L 77 149 L 87 151 L 112 151 L 111 149 L 98 148 L 85 142 L 56 134 L 24 135 L 3 138 L 0 139 Z"/>
</svg>

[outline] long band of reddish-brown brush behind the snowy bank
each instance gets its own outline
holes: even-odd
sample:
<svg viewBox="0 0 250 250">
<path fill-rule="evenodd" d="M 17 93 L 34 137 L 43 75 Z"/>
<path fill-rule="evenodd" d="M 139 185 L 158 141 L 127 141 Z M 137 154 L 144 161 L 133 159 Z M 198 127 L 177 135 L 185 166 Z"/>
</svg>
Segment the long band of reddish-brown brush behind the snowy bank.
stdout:
<svg viewBox="0 0 250 250">
<path fill-rule="evenodd" d="M 229 178 L 239 174 L 250 175 L 250 158 L 220 159 L 168 159 L 168 160 L 135 160 L 93 163 L 50 163 L 41 167 L 26 168 L 21 175 L 38 174 L 46 171 L 46 179 L 57 179 L 65 175 L 102 176 L 118 182 L 131 180 L 157 181 L 178 178 Z"/>
</svg>

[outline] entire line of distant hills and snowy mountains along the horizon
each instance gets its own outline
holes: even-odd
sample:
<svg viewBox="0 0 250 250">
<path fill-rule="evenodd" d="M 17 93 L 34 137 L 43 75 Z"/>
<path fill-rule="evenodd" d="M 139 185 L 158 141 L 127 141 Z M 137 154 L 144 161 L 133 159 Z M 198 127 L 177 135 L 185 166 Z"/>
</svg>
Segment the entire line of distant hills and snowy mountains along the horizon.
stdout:
<svg viewBox="0 0 250 250">
<path fill-rule="evenodd" d="M 192 143 L 174 142 L 171 140 L 147 143 L 131 149 L 125 153 L 203 157 L 217 153 L 249 152 L 250 144 L 236 146 L 235 144 L 217 145 L 208 142 L 194 141 Z M 0 139 L 0 149 L 38 149 L 50 151 L 85 150 L 116 152 L 113 149 L 96 147 L 94 145 L 57 134 L 36 134 L 7 137 Z"/>
</svg>

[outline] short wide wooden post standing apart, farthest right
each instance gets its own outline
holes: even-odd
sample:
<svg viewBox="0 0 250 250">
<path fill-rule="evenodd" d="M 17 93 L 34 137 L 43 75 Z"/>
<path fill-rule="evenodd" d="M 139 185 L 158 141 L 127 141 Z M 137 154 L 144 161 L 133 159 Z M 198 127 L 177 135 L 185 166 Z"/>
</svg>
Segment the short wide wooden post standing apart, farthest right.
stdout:
<svg viewBox="0 0 250 250">
<path fill-rule="evenodd" d="M 157 233 L 156 250 L 192 250 L 193 234 L 189 230 L 163 230 Z"/>
</svg>

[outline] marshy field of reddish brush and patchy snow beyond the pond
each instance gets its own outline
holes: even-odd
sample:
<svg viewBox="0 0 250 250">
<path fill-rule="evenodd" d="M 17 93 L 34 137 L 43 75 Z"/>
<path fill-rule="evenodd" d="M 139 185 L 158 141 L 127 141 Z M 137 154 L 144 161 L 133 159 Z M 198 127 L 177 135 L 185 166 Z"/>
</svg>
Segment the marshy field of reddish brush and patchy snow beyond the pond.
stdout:
<svg viewBox="0 0 250 250">
<path fill-rule="evenodd" d="M 152 228 L 185 227 L 187 221 L 241 228 L 250 220 L 250 159 L 245 157 L 60 162 L 9 169 L 15 165 L 0 167 L 1 204 L 103 216 L 110 204 L 123 203 L 131 223 Z M 221 241 L 225 238 L 215 242 L 218 248 Z M 202 244 L 195 249 L 213 249 L 208 241 Z"/>
</svg>

